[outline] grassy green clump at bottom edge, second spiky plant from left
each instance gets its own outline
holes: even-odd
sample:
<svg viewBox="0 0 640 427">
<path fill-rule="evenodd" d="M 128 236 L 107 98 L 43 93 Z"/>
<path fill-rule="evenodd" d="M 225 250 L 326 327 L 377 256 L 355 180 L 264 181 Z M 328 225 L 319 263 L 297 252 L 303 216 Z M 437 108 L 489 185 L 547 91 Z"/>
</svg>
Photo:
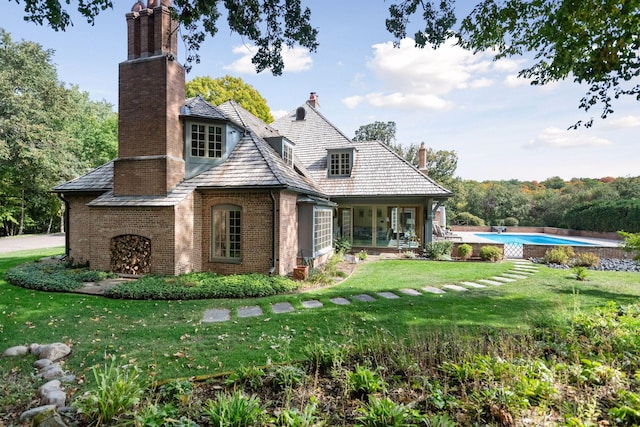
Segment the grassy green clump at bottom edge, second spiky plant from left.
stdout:
<svg viewBox="0 0 640 427">
<path fill-rule="evenodd" d="M 204 412 L 214 427 L 260 425 L 264 413 L 258 397 L 245 396 L 239 391 L 220 394 L 216 400 L 207 400 Z"/>
</svg>

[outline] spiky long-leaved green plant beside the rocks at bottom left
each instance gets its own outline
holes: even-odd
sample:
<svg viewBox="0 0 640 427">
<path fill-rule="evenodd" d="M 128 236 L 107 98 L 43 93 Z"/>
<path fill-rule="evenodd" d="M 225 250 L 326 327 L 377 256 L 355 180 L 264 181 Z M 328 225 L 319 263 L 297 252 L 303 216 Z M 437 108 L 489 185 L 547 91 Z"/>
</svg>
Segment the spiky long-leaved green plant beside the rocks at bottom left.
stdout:
<svg viewBox="0 0 640 427">
<path fill-rule="evenodd" d="M 91 368 L 95 388 L 80 396 L 74 406 L 92 425 L 110 424 L 115 418 L 130 415 L 140 402 L 146 387 L 135 366 L 116 366 L 111 363 Z"/>
</svg>

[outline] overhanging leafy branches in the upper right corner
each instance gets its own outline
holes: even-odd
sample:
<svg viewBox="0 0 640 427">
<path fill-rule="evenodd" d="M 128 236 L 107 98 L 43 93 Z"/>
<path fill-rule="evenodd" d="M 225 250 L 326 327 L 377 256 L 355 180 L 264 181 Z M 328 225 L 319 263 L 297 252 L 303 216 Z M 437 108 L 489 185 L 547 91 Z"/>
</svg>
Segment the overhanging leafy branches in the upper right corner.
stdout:
<svg viewBox="0 0 640 427">
<path fill-rule="evenodd" d="M 407 36 L 418 6 L 424 20 L 414 34 L 419 47 L 437 48 L 454 38 L 463 48 L 489 51 L 496 59 L 532 54 L 533 65 L 519 76 L 533 85 L 567 78 L 587 84 L 579 107 L 589 111 L 600 104 L 603 119 L 613 112 L 614 99 L 640 99 L 634 81 L 640 74 L 637 0 L 483 0 L 457 28 L 454 0 L 402 0 L 390 6 L 386 21 L 397 43 Z"/>
</svg>

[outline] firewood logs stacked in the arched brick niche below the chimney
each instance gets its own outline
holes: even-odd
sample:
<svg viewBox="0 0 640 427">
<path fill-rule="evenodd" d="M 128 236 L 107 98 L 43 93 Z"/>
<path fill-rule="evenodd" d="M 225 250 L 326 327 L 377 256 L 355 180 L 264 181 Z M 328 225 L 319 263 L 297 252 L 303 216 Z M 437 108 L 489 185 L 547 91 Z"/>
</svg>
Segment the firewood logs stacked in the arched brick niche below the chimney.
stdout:
<svg viewBox="0 0 640 427">
<path fill-rule="evenodd" d="M 147 274 L 151 271 L 151 240 L 135 234 L 111 239 L 111 271 Z"/>
</svg>

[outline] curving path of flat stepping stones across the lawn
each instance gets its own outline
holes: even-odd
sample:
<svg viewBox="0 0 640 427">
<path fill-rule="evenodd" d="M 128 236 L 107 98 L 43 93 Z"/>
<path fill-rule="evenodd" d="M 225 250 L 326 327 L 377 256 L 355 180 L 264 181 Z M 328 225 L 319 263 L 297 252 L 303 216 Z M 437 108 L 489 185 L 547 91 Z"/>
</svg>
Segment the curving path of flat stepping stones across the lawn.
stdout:
<svg viewBox="0 0 640 427">
<path fill-rule="evenodd" d="M 423 296 L 426 294 L 443 295 L 447 293 L 461 293 L 468 292 L 473 289 L 483 289 L 487 286 L 502 286 L 507 283 L 517 282 L 518 280 L 527 279 L 532 274 L 535 274 L 539 270 L 538 266 L 533 265 L 528 261 L 515 261 L 514 266 L 508 272 L 502 273 L 499 276 L 493 276 L 488 279 L 479 279 L 475 282 L 460 282 L 458 284 L 448 283 L 440 287 L 436 286 L 424 286 L 420 290 L 412 288 L 398 289 L 395 292 L 381 291 L 376 292 L 374 295 L 358 294 L 350 296 L 349 299 L 344 297 L 330 298 L 329 302 L 335 305 L 350 305 L 352 302 L 376 302 L 379 298 L 386 300 L 394 300 L 402 298 L 402 296 Z M 400 295 L 399 295 L 400 294 Z M 322 308 L 325 306 L 321 301 L 316 299 L 301 301 L 300 303 L 304 309 Z M 296 311 L 295 307 L 289 302 L 277 302 L 270 305 L 270 309 L 275 314 L 291 313 Z M 252 305 L 247 307 L 239 307 L 237 317 L 258 317 L 264 314 L 262 307 L 259 305 Z M 225 322 L 231 320 L 232 310 L 227 308 L 213 308 L 206 310 L 202 318 L 203 323 L 216 323 Z"/>
</svg>

